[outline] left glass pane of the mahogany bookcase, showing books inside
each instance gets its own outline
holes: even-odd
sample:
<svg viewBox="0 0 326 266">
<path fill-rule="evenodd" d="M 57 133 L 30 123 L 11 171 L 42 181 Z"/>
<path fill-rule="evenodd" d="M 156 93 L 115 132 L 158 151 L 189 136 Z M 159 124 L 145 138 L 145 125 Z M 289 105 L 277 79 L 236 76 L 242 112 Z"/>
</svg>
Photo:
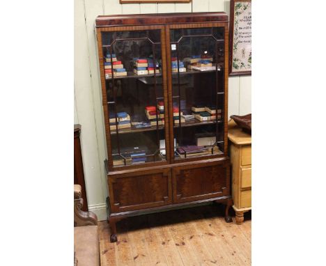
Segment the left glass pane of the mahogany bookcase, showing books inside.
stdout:
<svg viewBox="0 0 326 266">
<path fill-rule="evenodd" d="M 102 32 L 114 167 L 166 160 L 160 36 Z"/>
</svg>

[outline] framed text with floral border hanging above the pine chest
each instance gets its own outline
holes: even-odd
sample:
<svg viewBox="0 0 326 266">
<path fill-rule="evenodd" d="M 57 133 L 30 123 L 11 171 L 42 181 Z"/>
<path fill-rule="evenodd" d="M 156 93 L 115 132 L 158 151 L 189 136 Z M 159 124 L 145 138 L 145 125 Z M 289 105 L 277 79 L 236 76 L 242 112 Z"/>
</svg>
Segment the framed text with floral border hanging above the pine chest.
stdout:
<svg viewBox="0 0 326 266">
<path fill-rule="evenodd" d="M 251 0 L 231 0 L 229 43 L 229 75 L 251 75 Z"/>
</svg>

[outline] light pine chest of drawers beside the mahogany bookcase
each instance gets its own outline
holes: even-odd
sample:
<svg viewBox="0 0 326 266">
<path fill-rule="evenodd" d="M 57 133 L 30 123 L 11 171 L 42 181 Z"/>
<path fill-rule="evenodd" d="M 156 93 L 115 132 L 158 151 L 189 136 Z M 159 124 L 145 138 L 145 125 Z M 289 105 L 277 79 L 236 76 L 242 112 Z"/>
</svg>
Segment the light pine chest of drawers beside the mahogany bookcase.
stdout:
<svg viewBox="0 0 326 266">
<path fill-rule="evenodd" d="M 251 135 L 233 120 L 228 123 L 232 167 L 232 196 L 235 221 L 242 224 L 243 214 L 251 210 Z"/>
</svg>

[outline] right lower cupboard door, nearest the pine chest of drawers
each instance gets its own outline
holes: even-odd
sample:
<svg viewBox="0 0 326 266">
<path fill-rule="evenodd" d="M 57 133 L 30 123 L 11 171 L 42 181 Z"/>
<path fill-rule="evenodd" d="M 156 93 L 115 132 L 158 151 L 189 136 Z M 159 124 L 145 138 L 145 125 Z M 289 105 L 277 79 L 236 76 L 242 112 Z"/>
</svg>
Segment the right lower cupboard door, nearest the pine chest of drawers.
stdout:
<svg viewBox="0 0 326 266">
<path fill-rule="evenodd" d="M 229 162 L 173 167 L 173 203 L 202 201 L 230 194 Z"/>
</svg>

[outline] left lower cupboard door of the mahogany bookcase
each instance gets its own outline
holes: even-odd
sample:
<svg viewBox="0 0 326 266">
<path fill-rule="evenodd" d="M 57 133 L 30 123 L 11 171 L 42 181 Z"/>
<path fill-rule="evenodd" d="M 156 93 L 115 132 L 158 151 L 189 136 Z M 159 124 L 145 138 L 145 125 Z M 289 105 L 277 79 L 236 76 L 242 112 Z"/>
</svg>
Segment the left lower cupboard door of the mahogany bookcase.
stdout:
<svg viewBox="0 0 326 266">
<path fill-rule="evenodd" d="M 109 175 L 111 212 L 128 212 L 169 205 L 171 170 L 134 171 Z"/>
</svg>

